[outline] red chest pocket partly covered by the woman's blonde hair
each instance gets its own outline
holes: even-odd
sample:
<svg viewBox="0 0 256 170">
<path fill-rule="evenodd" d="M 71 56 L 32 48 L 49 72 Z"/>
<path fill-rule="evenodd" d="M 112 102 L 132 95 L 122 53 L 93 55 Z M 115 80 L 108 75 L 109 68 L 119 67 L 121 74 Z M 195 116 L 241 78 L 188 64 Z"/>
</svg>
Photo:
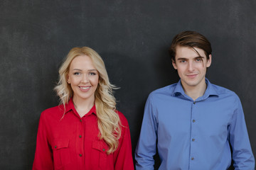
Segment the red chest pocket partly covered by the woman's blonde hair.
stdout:
<svg viewBox="0 0 256 170">
<path fill-rule="evenodd" d="M 100 169 L 106 169 L 107 167 L 107 158 L 110 155 L 107 155 L 108 146 L 103 140 L 92 141 L 92 157 L 95 160 L 99 160 L 98 165 Z"/>
</svg>

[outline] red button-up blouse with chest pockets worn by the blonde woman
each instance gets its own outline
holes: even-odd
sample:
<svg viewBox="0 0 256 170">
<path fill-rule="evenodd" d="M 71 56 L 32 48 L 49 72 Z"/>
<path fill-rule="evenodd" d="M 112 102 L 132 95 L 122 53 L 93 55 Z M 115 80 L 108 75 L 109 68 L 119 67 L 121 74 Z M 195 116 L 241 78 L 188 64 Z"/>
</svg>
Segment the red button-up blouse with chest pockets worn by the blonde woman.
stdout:
<svg viewBox="0 0 256 170">
<path fill-rule="evenodd" d="M 63 106 L 55 106 L 41 114 L 33 170 L 134 169 L 129 125 L 122 113 L 118 112 L 122 135 L 112 154 L 106 153 L 107 144 L 98 137 L 95 106 L 80 118 L 71 99 L 64 117 L 63 113 Z"/>
</svg>

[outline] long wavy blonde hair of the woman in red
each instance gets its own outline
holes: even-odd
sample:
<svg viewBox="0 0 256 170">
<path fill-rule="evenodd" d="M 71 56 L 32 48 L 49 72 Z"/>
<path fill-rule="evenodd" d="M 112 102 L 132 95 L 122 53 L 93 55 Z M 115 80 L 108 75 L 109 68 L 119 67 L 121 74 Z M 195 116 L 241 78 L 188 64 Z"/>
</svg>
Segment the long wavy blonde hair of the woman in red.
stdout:
<svg viewBox="0 0 256 170">
<path fill-rule="evenodd" d="M 105 64 L 100 55 L 90 47 L 74 47 L 71 49 L 59 69 L 59 81 L 54 90 L 60 97 L 60 105 L 63 104 L 65 107 L 65 104 L 73 97 L 73 90 L 67 82 L 70 63 L 75 57 L 80 55 L 90 57 L 100 75 L 99 84 L 95 91 L 97 125 L 100 130 L 100 140 L 105 140 L 109 146 L 107 154 L 111 154 L 119 145 L 118 140 L 121 136 L 121 125 L 119 115 L 116 111 L 116 101 L 112 94 L 112 90 L 116 88 L 110 84 Z"/>
</svg>

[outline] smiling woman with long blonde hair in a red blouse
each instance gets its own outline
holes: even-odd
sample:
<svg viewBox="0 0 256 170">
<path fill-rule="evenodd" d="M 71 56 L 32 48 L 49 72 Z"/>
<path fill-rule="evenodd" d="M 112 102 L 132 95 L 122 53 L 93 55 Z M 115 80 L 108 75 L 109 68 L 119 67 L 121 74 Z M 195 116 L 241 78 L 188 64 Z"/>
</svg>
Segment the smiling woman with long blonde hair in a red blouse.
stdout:
<svg viewBox="0 0 256 170">
<path fill-rule="evenodd" d="M 127 119 L 100 55 L 74 47 L 59 74 L 60 106 L 41 114 L 33 169 L 134 169 Z"/>
</svg>

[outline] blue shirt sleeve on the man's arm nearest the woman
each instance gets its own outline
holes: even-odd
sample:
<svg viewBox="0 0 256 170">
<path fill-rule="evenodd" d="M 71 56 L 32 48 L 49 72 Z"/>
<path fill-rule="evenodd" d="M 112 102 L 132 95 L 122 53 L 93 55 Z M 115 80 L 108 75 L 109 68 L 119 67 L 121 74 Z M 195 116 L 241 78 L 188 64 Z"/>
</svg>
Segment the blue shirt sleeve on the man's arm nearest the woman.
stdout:
<svg viewBox="0 0 256 170">
<path fill-rule="evenodd" d="M 154 116 L 154 107 L 151 98 L 146 101 L 144 118 L 139 141 L 135 151 L 136 169 L 154 169 L 154 155 L 156 154 L 157 123 Z"/>
</svg>

